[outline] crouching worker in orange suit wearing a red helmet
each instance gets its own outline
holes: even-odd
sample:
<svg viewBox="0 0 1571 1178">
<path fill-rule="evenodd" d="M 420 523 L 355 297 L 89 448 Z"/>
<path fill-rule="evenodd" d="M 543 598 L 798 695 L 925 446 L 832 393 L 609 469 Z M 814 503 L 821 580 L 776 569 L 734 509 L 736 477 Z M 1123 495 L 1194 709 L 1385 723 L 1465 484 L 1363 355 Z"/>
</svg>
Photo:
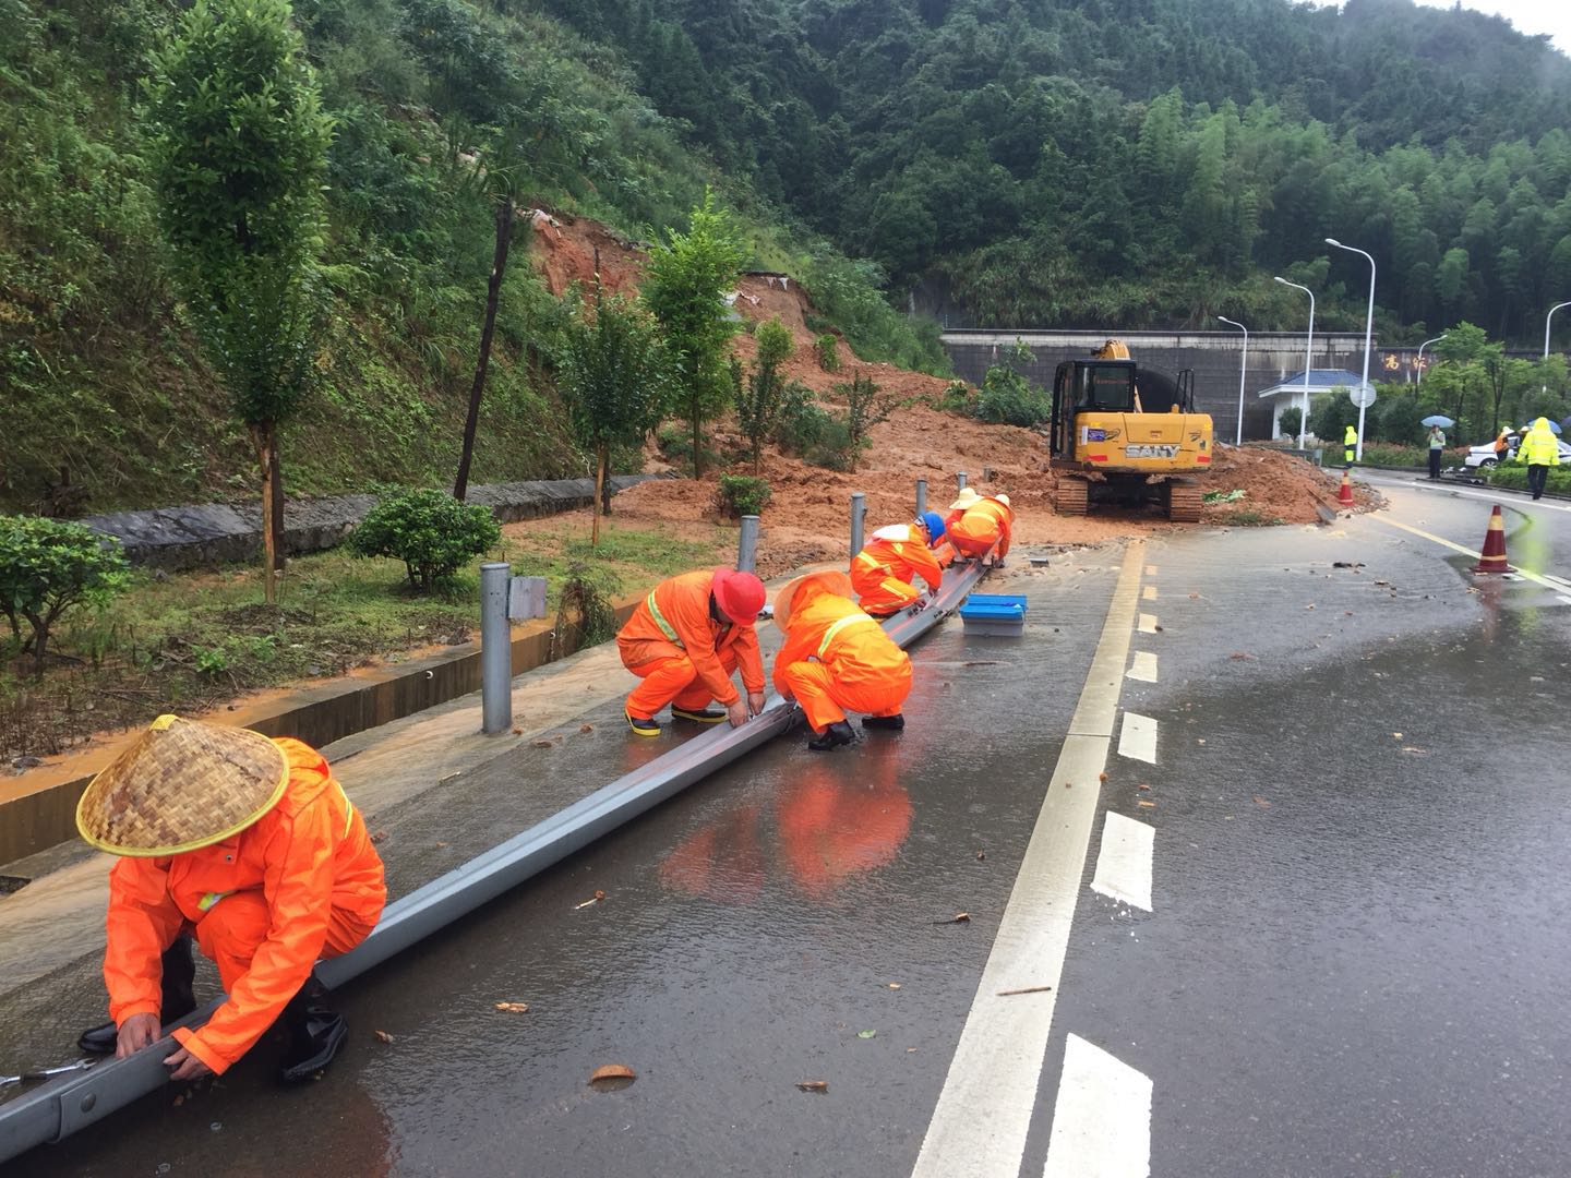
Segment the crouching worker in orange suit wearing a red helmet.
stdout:
<svg viewBox="0 0 1571 1178">
<path fill-rule="evenodd" d="M 764 581 L 724 565 L 657 584 L 616 636 L 622 664 L 644 680 L 627 697 L 627 726 L 658 737 L 655 713 L 666 704 L 672 719 L 731 719 L 732 727 L 762 712 L 764 660 L 753 624 L 764 600 Z M 738 669 L 745 701 L 731 682 Z"/>
</svg>

